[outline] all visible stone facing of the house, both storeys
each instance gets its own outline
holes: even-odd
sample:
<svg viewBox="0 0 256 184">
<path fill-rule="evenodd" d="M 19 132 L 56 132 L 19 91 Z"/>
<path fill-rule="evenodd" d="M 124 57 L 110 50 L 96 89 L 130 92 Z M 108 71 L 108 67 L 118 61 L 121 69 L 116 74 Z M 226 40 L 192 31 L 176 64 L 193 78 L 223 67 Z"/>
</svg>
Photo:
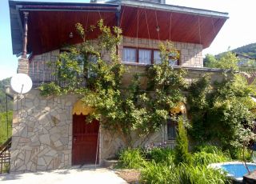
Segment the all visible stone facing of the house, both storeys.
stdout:
<svg viewBox="0 0 256 184">
<path fill-rule="evenodd" d="M 118 52 L 122 58 L 123 46 L 158 49 L 158 43 L 158 40 L 124 38 Z M 92 44 L 96 45 L 97 40 L 93 40 Z M 202 67 L 202 45 L 174 42 L 174 46 L 180 51 L 182 66 L 194 69 Z M 36 55 L 30 58 L 30 62 L 22 60 L 19 62 L 19 69 L 30 75 L 35 86 L 42 82 L 54 81 L 55 78 L 52 75 L 54 67 L 49 66 L 46 62 L 51 62 L 54 66 L 59 53 L 59 50 L 54 50 Z M 103 58 L 110 59 L 109 54 L 104 52 Z M 131 73 L 144 72 L 143 65 L 136 63 L 133 65 L 134 67 L 130 67 Z M 190 70 L 187 78 L 200 78 L 205 72 L 205 70 Z M 219 78 L 216 72 L 211 74 L 214 79 Z M 131 77 L 131 74 L 128 74 L 123 78 L 124 85 L 130 83 Z M 142 85 L 146 84 L 146 78 L 142 78 L 142 80 L 144 80 Z M 22 96 L 14 95 L 11 172 L 53 170 L 72 165 L 72 110 L 78 99 L 74 95 L 45 98 L 35 89 Z M 174 141 L 166 140 L 166 132 L 166 127 L 162 127 L 161 131 L 153 134 L 143 142 L 143 145 L 150 142 L 156 144 L 167 142 L 167 144 L 174 145 Z M 104 159 L 113 158 L 118 149 L 122 148 L 123 143 L 118 134 L 110 133 L 102 128 L 100 128 L 99 134 L 99 163 L 101 164 Z M 138 140 L 136 144 L 141 146 L 141 142 L 142 140 Z"/>
</svg>

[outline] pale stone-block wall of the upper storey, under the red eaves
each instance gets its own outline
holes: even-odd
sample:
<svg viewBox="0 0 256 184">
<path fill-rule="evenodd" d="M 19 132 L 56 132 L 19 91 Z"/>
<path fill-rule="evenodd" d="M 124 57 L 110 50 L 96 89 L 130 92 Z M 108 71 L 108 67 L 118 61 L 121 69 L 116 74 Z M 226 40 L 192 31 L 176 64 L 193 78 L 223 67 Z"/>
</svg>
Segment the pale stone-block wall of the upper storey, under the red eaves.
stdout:
<svg viewBox="0 0 256 184">
<path fill-rule="evenodd" d="M 91 40 L 91 44 L 98 46 L 98 40 Z M 180 66 L 203 67 L 202 45 L 183 42 L 173 42 L 173 44 L 174 47 L 180 52 Z M 158 45 L 158 40 L 124 37 L 121 46 L 119 46 L 119 57 L 122 59 L 123 46 L 134 46 L 157 50 Z M 38 84 L 42 82 L 50 82 L 56 80 L 55 76 L 53 75 L 55 70 L 54 62 L 58 60 L 59 53 L 60 50 L 53 50 L 44 54 L 34 55 L 32 58 L 30 58 L 29 75 L 33 79 L 34 86 L 38 86 Z M 103 51 L 102 58 L 108 61 L 110 60 L 110 55 L 108 52 Z M 47 62 L 50 62 L 51 66 L 49 66 Z M 19 63 L 21 64 L 20 69 L 24 69 L 25 62 L 21 61 Z M 27 67 L 28 66 L 26 66 L 26 68 Z M 26 74 L 27 73 L 28 72 L 26 71 Z"/>
</svg>

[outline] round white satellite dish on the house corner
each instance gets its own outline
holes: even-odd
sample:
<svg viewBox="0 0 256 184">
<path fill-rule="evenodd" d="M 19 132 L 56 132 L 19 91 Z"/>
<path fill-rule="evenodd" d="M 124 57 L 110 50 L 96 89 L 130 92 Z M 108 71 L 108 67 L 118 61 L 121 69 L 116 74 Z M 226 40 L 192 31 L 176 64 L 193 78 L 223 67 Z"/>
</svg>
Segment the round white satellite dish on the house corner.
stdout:
<svg viewBox="0 0 256 184">
<path fill-rule="evenodd" d="M 10 79 L 10 86 L 18 94 L 26 94 L 32 88 L 32 80 L 27 74 L 15 74 Z"/>
</svg>

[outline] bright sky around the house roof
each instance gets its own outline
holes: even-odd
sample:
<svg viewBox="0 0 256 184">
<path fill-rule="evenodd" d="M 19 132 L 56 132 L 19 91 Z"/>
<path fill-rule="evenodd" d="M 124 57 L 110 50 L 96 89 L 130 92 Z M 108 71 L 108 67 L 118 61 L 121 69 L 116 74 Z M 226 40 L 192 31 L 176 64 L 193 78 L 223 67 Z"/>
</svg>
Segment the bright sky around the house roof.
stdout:
<svg viewBox="0 0 256 184">
<path fill-rule="evenodd" d="M 24 1 L 24 0 L 19 0 Z M 38 1 L 38 0 L 26 0 Z M 89 0 L 41 0 L 41 2 L 88 2 Z M 167 4 L 229 13 L 222 30 L 203 54 L 218 54 L 256 42 L 255 0 L 166 0 Z M 0 80 L 16 74 L 18 58 L 12 54 L 8 0 L 0 0 Z"/>
</svg>

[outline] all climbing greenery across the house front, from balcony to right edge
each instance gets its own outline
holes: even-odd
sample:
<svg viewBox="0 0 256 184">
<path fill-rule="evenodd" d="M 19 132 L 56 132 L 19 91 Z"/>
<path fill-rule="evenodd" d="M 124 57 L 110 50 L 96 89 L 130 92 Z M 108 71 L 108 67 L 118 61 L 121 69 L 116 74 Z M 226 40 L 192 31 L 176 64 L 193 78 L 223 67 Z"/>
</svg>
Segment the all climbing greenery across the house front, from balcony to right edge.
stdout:
<svg viewBox="0 0 256 184">
<path fill-rule="evenodd" d="M 237 74 L 223 74 L 224 80 L 214 84 L 204 76 L 187 86 L 186 72 L 169 64 L 170 56 L 178 57 L 170 42 L 159 45 L 160 64 L 136 74 L 118 58 L 122 30 L 105 26 L 103 21 L 89 30 L 79 23 L 76 27 L 82 43 L 60 54 L 53 65 L 57 80 L 42 84 L 41 94 L 80 94 L 86 106 L 94 109 L 88 118 L 97 118 L 104 129 L 121 135 L 125 146 L 140 145 L 160 130 L 170 118 L 170 109 L 181 101 L 190 107 L 188 133 L 195 142 L 214 142 L 232 150 L 241 146 L 241 131 L 251 131 L 255 117 L 250 110 L 255 106 L 250 95 L 254 90 Z M 98 44 L 86 38 L 94 29 L 102 33 Z M 106 53 L 108 58 L 104 58 Z M 132 78 L 129 84 L 123 80 L 127 74 Z"/>
</svg>

